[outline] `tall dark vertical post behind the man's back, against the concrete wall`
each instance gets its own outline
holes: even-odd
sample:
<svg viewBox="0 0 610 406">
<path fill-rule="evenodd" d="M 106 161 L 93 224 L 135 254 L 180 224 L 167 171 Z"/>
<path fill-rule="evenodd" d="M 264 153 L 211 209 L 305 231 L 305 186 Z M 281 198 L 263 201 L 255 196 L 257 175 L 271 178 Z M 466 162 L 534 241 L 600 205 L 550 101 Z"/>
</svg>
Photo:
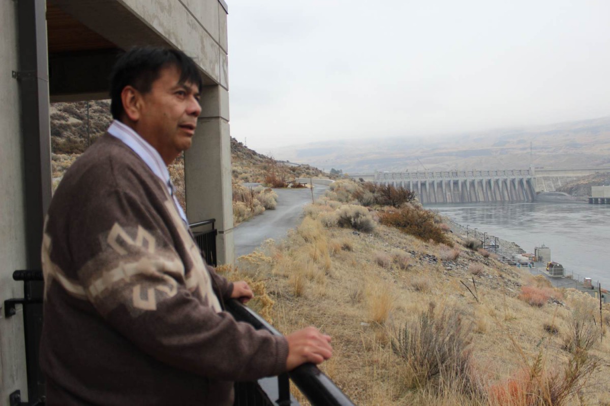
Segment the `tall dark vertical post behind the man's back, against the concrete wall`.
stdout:
<svg viewBox="0 0 610 406">
<path fill-rule="evenodd" d="M 17 4 L 21 134 L 23 136 L 26 268 L 40 269 L 40 245 L 46 210 L 51 202 L 51 130 L 46 44 L 46 1 L 19 0 Z M 24 282 L 30 295 L 42 294 L 42 283 Z M 38 365 L 42 308 L 24 306 L 27 399 L 45 393 Z"/>
</svg>

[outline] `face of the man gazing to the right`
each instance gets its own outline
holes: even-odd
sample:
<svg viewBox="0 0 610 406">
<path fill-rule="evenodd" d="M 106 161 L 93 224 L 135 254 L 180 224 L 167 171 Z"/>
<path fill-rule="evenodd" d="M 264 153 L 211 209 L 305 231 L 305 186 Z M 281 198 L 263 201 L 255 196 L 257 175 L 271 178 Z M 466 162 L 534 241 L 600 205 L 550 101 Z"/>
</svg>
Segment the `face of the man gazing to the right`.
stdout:
<svg viewBox="0 0 610 406">
<path fill-rule="evenodd" d="M 163 68 L 151 91 L 142 94 L 136 131 L 154 147 L 163 161 L 170 164 L 187 150 L 195 135 L 199 106 L 199 88 L 180 83 L 181 72 L 175 66 Z"/>
</svg>

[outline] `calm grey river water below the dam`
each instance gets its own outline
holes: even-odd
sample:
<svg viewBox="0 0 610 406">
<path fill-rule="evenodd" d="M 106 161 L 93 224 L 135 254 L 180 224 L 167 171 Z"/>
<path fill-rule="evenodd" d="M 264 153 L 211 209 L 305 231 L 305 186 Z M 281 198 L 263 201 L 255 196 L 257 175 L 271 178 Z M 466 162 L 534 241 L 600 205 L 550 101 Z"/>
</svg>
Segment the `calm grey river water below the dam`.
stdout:
<svg viewBox="0 0 610 406">
<path fill-rule="evenodd" d="M 478 232 L 513 241 L 534 253 L 544 243 L 551 259 L 610 287 L 610 205 L 586 203 L 476 203 L 425 205 Z"/>
</svg>

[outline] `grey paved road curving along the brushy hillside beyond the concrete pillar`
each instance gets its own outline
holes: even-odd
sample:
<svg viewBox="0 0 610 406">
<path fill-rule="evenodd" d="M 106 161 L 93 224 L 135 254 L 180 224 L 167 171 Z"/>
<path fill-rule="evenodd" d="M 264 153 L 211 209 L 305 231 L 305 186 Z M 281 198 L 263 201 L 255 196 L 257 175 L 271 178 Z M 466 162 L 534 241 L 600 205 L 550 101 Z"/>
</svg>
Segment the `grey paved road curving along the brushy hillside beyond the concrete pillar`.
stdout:
<svg viewBox="0 0 610 406">
<path fill-rule="evenodd" d="M 314 199 L 328 190 L 328 186 L 314 185 Z M 303 206 L 311 203 L 311 190 L 273 189 L 278 194 L 275 210 L 265 210 L 261 215 L 235 227 L 235 257 L 254 251 L 267 239 L 281 240 L 290 228 L 298 225 L 303 218 Z"/>
</svg>

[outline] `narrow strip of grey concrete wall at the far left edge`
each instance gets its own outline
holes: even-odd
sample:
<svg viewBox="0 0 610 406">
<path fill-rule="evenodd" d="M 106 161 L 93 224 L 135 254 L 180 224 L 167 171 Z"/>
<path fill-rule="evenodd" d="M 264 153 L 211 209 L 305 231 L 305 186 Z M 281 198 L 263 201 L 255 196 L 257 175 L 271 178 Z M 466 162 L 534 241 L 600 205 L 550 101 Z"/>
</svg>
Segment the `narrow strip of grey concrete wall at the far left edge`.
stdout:
<svg viewBox="0 0 610 406">
<path fill-rule="evenodd" d="M 23 282 L 12 273 L 26 264 L 19 84 L 12 78 L 19 68 L 16 21 L 16 2 L 0 2 L 0 405 L 15 390 L 27 392 L 21 306 L 4 318 L 4 301 L 23 297 Z"/>
</svg>

